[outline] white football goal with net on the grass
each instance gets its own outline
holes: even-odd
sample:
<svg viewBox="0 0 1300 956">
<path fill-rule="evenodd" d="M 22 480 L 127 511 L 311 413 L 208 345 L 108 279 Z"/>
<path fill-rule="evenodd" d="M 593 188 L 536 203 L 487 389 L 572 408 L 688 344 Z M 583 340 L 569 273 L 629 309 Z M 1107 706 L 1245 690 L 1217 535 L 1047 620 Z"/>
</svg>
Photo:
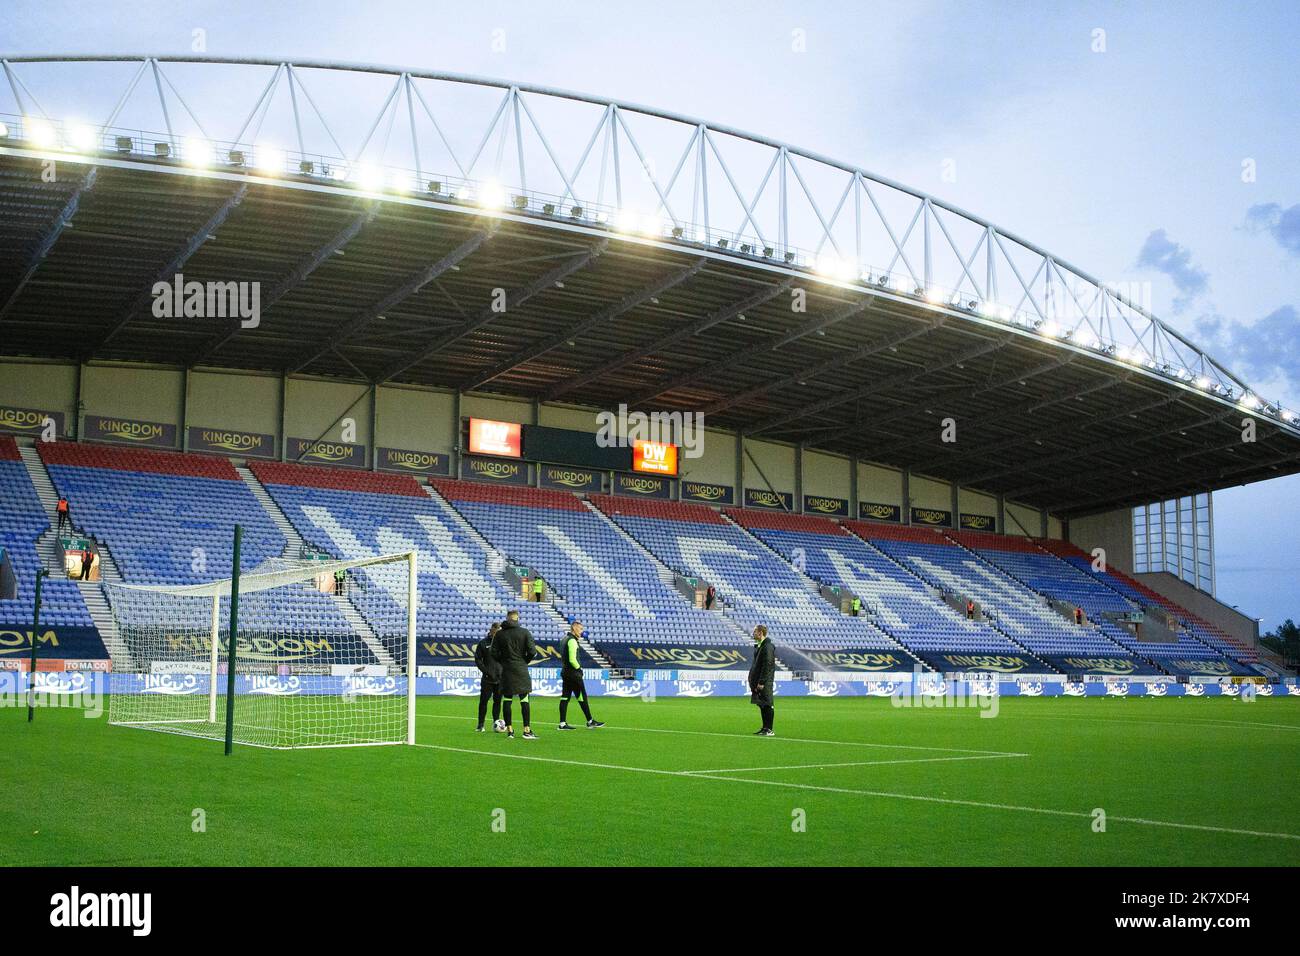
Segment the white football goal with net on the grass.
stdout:
<svg viewBox="0 0 1300 956">
<path fill-rule="evenodd" d="M 229 578 L 109 585 L 131 658 L 109 723 L 226 739 L 229 718 L 233 743 L 269 748 L 413 744 L 416 581 L 415 551 L 265 562 L 234 581 L 234 628 Z"/>
</svg>

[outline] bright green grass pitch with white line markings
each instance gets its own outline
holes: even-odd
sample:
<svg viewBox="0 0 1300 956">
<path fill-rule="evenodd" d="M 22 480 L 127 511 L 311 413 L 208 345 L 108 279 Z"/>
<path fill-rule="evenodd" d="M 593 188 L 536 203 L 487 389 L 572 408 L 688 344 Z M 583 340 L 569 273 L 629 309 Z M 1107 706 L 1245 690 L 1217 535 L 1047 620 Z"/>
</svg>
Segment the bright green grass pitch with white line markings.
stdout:
<svg viewBox="0 0 1300 956">
<path fill-rule="evenodd" d="M 0 710 L 8 865 L 1295 865 L 1300 700 L 594 700 L 602 730 L 239 748 Z M 578 714 L 576 706 L 571 715 Z M 205 832 L 194 832 L 202 809 Z M 1095 810 L 1106 814 L 1095 831 Z M 504 812 L 503 814 L 500 812 Z M 504 830 L 499 823 L 504 822 Z M 803 821 L 802 830 L 797 826 Z M 494 829 L 494 822 L 498 827 Z"/>
</svg>

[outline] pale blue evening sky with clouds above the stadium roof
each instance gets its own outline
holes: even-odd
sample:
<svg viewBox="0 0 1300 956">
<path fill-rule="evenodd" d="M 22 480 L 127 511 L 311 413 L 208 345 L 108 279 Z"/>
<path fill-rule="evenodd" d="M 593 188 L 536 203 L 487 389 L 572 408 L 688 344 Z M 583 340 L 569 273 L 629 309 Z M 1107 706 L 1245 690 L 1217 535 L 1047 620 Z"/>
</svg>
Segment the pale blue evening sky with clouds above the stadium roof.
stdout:
<svg viewBox="0 0 1300 956">
<path fill-rule="evenodd" d="M 1300 408 L 1295 3 L 8 0 L 0 9 L 0 51 L 14 55 L 183 55 L 195 30 L 211 56 L 547 85 L 858 163 L 1105 282 L 1149 282 L 1156 315 L 1261 395 Z M 62 101 L 77 92 L 61 91 Z M 1297 528 L 1300 476 L 1216 494 L 1218 596 L 1265 628 L 1300 618 Z"/>
</svg>

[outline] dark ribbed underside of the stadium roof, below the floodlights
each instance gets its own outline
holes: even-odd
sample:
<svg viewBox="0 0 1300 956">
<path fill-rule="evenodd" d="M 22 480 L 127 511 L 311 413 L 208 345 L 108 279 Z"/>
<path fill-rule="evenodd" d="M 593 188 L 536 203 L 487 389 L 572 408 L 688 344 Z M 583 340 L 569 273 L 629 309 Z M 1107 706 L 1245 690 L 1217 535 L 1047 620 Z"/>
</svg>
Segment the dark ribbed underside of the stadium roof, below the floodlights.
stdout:
<svg viewBox="0 0 1300 956">
<path fill-rule="evenodd" d="M 5 355 L 703 412 L 1066 516 L 1300 471 L 1271 423 L 1244 444 L 1232 406 L 915 302 L 432 206 L 61 169 L 0 156 Z M 257 328 L 155 317 L 177 271 L 259 284 Z"/>
</svg>

